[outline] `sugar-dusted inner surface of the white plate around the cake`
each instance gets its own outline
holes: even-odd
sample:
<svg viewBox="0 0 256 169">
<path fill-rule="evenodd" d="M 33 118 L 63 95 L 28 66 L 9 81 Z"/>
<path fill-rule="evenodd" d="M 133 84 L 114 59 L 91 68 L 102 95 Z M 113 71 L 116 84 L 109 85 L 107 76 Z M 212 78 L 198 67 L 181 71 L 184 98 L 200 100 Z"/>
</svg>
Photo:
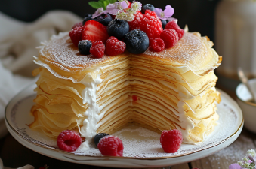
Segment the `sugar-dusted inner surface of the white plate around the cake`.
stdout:
<svg viewBox="0 0 256 169">
<path fill-rule="evenodd" d="M 26 138 L 29 143 L 35 143 L 45 148 L 55 149 L 57 148 L 56 140 L 46 137 L 44 134 L 37 131 L 32 131 L 26 124 L 32 121 L 32 117 L 29 116 L 29 108 L 32 106 L 33 97 L 23 98 L 23 100 L 17 103 L 17 106 L 11 110 L 10 124 L 15 130 Z M 231 106 L 230 106 L 231 105 Z M 183 143 L 180 146 L 178 152 L 168 154 L 163 152 L 162 146 L 160 145 L 160 134 L 147 130 L 146 128 L 137 127 L 136 125 L 129 125 L 120 131 L 117 131 L 115 136 L 119 137 L 124 144 L 124 157 L 131 158 L 162 158 L 162 157 L 173 157 L 176 155 L 185 155 L 191 152 L 197 152 L 201 149 L 208 149 L 211 146 L 217 145 L 222 140 L 225 140 L 231 134 L 233 134 L 241 122 L 239 120 L 238 110 L 232 108 L 233 104 L 230 103 L 226 98 L 222 98 L 221 104 L 217 104 L 217 113 L 220 115 L 218 125 L 214 132 L 210 134 L 203 143 L 197 145 L 189 145 Z M 27 112 L 24 116 L 24 112 Z M 85 152 L 72 152 L 75 155 L 88 155 L 88 156 L 102 156 L 99 150 L 90 144 L 90 149 Z"/>
</svg>

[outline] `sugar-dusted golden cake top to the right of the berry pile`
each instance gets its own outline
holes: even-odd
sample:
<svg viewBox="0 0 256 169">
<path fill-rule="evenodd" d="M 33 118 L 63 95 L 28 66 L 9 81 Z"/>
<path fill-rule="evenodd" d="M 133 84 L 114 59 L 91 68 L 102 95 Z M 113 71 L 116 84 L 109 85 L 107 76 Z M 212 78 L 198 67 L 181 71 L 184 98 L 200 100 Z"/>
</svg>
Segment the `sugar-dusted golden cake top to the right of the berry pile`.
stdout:
<svg viewBox="0 0 256 169">
<path fill-rule="evenodd" d="M 143 55 L 154 56 L 156 59 L 171 62 L 172 65 L 185 65 L 192 71 L 200 70 L 203 72 L 216 67 L 217 64 L 217 59 L 211 62 L 211 59 L 215 57 L 211 47 L 212 42 L 201 37 L 199 33 L 185 32 L 184 37 L 174 47 L 162 52 L 147 50 Z"/>
</svg>

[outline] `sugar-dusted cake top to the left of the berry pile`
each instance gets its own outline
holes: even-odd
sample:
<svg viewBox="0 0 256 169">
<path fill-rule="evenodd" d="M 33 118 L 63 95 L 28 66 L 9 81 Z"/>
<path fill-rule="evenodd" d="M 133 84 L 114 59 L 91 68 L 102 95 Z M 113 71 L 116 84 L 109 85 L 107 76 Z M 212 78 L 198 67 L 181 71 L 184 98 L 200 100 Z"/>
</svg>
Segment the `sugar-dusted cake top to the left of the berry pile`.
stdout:
<svg viewBox="0 0 256 169">
<path fill-rule="evenodd" d="M 54 35 L 51 41 L 39 47 L 39 59 L 64 71 L 78 71 L 113 58 L 111 56 L 96 58 L 93 55 L 82 55 L 79 53 L 79 49 L 72 44 L 68 33 L 61 32 L 59 35 Z"/>
</svg>

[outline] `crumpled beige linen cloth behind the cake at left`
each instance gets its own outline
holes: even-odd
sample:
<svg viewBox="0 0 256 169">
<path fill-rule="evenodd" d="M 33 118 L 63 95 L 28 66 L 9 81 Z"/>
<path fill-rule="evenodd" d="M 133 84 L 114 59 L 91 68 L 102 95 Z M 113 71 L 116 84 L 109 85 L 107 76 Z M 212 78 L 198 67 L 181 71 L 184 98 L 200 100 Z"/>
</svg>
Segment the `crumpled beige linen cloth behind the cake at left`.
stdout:
<svg viewBox="0 0 256 169">
<path fill-rule="evenodd" d="M 57 32 L 69 31 L 81 20 L 69 11 L 50 11 L 33 23 L 23 23 L 0 12 L 0 138 L 8 133 L 4 120 L 8 101 L 29 83 L 35 82 L 31 74 L 37 67 L 32 61 L 38 54 L 35 47 Z M 19 167 L 30 168 L 34 167 Z M 3 167 L 1 158 L 0 169 L 9 169 Z"/>
</svg>

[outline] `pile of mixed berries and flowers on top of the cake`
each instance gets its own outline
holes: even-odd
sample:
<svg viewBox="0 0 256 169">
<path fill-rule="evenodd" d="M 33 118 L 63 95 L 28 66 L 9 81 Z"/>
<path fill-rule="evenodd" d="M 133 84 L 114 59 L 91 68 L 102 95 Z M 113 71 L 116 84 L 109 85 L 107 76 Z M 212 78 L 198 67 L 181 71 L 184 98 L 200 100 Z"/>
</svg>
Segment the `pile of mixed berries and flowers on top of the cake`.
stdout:
<svg viewBox="0 0 256 169">
<path fill-rule="evenodd" d="M 170 5 L 162 11 L 150 4 L 142 7 L 140 2 L 102 1 L 89 2 L 97 11 L 86 14 L 69 32 L 73 44 L 83 55 L 116 56 L 125 49 L 134 54 L 147 49 L 161 52 L 173 47 L 184 35 L 177 20 L 171 17 L 174 8 Z"/>
</svg>

